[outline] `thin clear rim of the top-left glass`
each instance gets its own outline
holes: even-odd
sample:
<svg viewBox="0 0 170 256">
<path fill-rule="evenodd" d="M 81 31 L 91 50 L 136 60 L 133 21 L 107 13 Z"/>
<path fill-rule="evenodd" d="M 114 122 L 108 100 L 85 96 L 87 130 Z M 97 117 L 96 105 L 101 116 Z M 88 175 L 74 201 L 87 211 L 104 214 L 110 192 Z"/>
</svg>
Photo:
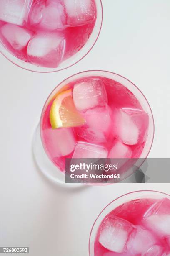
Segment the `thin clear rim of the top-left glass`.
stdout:
<svg viewBox="0 0 170 256">
<path fill-rule="evenodd" d="M 18 63 L 15 63 L 15 61 L 13 61 L 12 59 L 10 59 L 10 57 L 7 57 L 3 52 L 2 52 L 2 50 L 0 49 L 0 53 L 2 54 L 2 56 L 4 56 L 8 61 L 10 61 L 11 63 L 13 63 L 15 66 L 17 66 L 17 67 L 19 67 L 19 68 L 21 68 L 21 69 L 24 69 L 24 70 L 27 70 L 27 71 L 30 71 L 30 72 L 35 72 L 35 73 L 54 73 L 54 72 L 59 72 L 59 71 L 62 71 L 62 70 L 65 70 L 65 69 L 68 69 L 68 68 L 70 68 L 70 67 L 72 67 L 72 66 L 74 66 L 75 64 L 77 64 L 79 61 L 81 61 L 82 59 L 84 59 L 85 58 L 85 56 L 87 56 L 87 54 L 89 54 L 89 52 L 92 50 L 92 48 L 95 46 L 95 44 L 96 44 L 96 42 L 97 42 L 97 40 L 98 40 L 98 38 L 99 38 L 99 36 L 100 36 L 100 32 L 101 32 L 101 29 L 102 29 L 102 22 L 103 22 L 103 7 L 102 7 L 102 0 L 99 0 L 99 2 L 100 2 L 100 5 L 101 5 L 101 22 L 100 22 L 100 27 L 99 27 L 99 31 L 98 31 L 98 33 L 97 33 L 97 37 L 95 38 L 95 41 L 92 43 L 92 46 L 90 46 L 90 49 L 88 49 L 88 51 L 85 53 L 85 54 L 83 54 L 83 56 L 79 59 L 79 60 L 77 60 L 77 61 L 75 61 L 75 62 L 73 62 L 72 64 L 70 64 L 70 65 L 68 65 L 67 67 L 61 67 L 60 69 L 57 69 L 57 70 L 48 70 L 48 71 L 39 71 L 39 70 L 32 70 L 32 69 L 30 69 L 30 68 L 26 68 L 26 67 L 23 67 L 21 64 L 18 64 Z M 93 28 L 94 29 L 94 28 Z M 91 35 L 90 35 L 91 36 Z M 88 40 L 87 40 L 88 41 Z M 86 41 L 86 43 L 87 43 L 87 41 Z M 85 43 L 85 44 L 86 44 Z M 1 43 L 2 44 L 2 43 Z M 85 45 L 84 45 L 85 46 Z M 83 47 L 84 47 L 83 46 Z M 83 49 L 83 47 L 82 47 L 82 49 Z M 13 54 L 11 54 L 8 50 L 7 50 L 7 52 L 10 54 L 10 56 L 13 56 L 13 57 L 15 57 Z M 78 52 L 77 52 L 78 53 Z M 75 54 L 74 54 L 75 55 Z M 74 56 L 73 55 L 73 56 Z M 17 57 L 15 57 L 16 59 L 18 59 Z M 21 60 L 22 61 L 22 60 Z M 24 62 L 25 63 L 25 61 L 22 61 L 22 62 Z M 33 66 L 36 66 L 35 64 L 32 64 Z M 36 67 L 38 67 L 38 66 L 36 66 Z M 41 67 L 40 67 L 41 68 Z M 42 67 L 43 68 L 43 67 Z M 45 68 L 45 67 L 44 67 Z M 57 67 L 56 67 L 57 68 Z"/>
</svg>

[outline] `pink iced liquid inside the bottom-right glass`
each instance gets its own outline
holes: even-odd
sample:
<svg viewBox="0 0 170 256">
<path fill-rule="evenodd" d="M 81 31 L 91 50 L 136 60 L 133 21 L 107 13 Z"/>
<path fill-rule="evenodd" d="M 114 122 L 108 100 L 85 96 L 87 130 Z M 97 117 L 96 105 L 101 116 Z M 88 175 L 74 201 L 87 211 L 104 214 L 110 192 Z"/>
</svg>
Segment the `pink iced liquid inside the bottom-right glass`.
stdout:
<svg viewBox="0 0 170 256">
<path fill-rule="evenodd" d="M 159 230 L 162 228 L 162 223 L 150 222 L 151 218 L 160 216 L 162 222 L 164 222 L 164 230 Z M 166 216 L 166 217 L 165 217 Z M 168 216 L 168 217 L 167 217 Z M 148 218 L 149 217 L 149 218 Z M 128 234 L 128 240 L 125 242 L 125 247 L 121 249 L 116 248 L 114 245 L 112 251 L 108 249 L 109 244 L 105 243 L 105 238 L 101 238 L 101 233 L 108 225 L 108 220 L 110 223 L 113 219 L 118 220 L 118 222 L 128 221 L 128 228 L 131 228 L 130 234 Z M 119 219 L 117 219 L 119 218 Z M 167 222 L 168 218 L 170 220 L 170 200 L 156 200 L 156 199 L 137 199 L 126 202 L 123 205 L 115 208 L 110 212 L 101 222 L 98 228 L 97 235 L 94 244 L 94 255 L 95 256 L 166 256 L 170 255 L 170 226 Z M 151 223 L 151 224 L 150 224 Z M 112 224 L 110 224 L 112 225 Z M 156 226 L 154 226 L 156 225 Z M 167 228 L 165 228 L 167 226 Z M 156 228 L 155 228 L 156 227 Z M 122 229 L 124 227 L 122 226 Z M 125 229 L 128 230 L 126 227 Z M 160 229 L 161 229 L 160 228 Z M 133 230 L 132 230 L 133 229 Z M 108 230 L 108 229 L 107 229 Z M 143 233 L 140 233 L 139 230 Z M 118 233 L 118 236 L 120 233 Z M 141 235 L 143 234 L 143 235 Z M 105 233 L 106 236 L 106 233 Z M 116 236 L 116 234 L 115 234 Z M 121 238 L 120 238 L 121 239 Z M 107 236 L 106 241 L 109 240 Z M 114 238 L 112 237 L 112 241 Z M 119 243 L 119 238 L 117 239 Z M 103 246 L 104 245 L 104 246 Z M 105 246 L 107 248 L 105 248 Z M 120 252 L 115 252 L 120 249 Z M 121 252 L 122 251 L 122 252 Z"/>
</svg>

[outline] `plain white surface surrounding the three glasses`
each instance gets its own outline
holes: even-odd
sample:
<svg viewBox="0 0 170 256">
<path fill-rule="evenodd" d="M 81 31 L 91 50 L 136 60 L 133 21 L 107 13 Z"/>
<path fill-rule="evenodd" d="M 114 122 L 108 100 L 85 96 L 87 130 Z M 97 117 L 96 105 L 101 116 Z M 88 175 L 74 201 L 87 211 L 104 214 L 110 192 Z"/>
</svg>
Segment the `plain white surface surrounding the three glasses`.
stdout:
<svg viewBox="0 0 170 256">
<path fill-rule="evenodd" d="M 103 12 L 97 43 L 69 69 L 38 74 L 0 56 L 0 246 L 29 246 L 30 256 L 87 256 L 91 226 L 110 201 L 138 189 L 170 193 L 169 184 L 59 187 L 33 161 L 32 137 L 47 96 L 87 69 L 116 72 L 140 88 L 155 119 L 149 157 L 170 157 L 170 1 L 103 0 Z"/>
</svg>

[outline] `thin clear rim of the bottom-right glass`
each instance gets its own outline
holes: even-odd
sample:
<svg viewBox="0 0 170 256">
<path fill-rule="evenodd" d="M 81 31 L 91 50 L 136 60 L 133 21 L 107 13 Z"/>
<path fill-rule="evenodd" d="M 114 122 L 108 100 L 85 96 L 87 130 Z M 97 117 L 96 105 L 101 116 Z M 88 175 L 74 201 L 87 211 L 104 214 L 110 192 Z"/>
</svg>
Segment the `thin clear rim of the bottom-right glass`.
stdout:
<svg viewBox="0 0 170 256">
<path fill-rule="evenodd" d="M 93 228 L 94 228 L 94 226 L 95 226 L 95 224 L 96 224 L 98 218 L 99 218 L 100 215 L 102 214 L 102 212 L 104 212 L 105 209 L 106 209 L 109 205 L 111 205 L 113 202 L 115 202 L 116 200 L 119 200 L 120 198 L 125 197 L 125 196 L 127 196 L 127 195 L 131 195 L 131 194 L 135 194 L 135 193 L 140 193 L 140 192 L 154 192 L 154 193 L 158 193 L 158 194 L 162 194 L 162 195 L 166 195 L 166 196 L 170 197 L 170 194 L 167 194 L 167 193 L 165 193 L 165 192 L 160 192 L 160 191 L 158 191 L 158 190 L 143 189 L 143 190 L 136 190 L 136 191 L 128 192 L 128 193 L 126 193 L 126 194 L 124 194 L 124 195 L 121 195 L 121 196 L 115 198 L 114 200 L 112 200 L 112 201 L 111 201 L 110 203 L 108 203 L 108 204 L 102 209 L 102 211 L 97 215 L 97 218 L 95 218 L 95 221 L 94 221 L 94 223 L 93 223 L 93 225 L 92 225 L 92 228 L 91 228 L 91 230 L 90 230 L 89 242 L 88 242 L 88 252 L 89 252 L 89 256 L 91 256 L 91 254 L 90 254 L 90 241 L 91 241 L 92 231 L 93 231 Z M 113 210 L 114 210 L 114 209 L 113 209 Z"/>
</svg>

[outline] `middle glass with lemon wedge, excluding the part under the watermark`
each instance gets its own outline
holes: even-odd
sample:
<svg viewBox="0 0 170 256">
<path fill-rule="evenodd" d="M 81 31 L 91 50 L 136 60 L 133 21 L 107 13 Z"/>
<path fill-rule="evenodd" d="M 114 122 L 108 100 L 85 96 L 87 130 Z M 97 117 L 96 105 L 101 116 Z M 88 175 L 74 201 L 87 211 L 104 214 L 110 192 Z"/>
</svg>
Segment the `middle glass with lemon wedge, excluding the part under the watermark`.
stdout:
<svg viewBox="0 0 170 256">
<path fill-rule="evenodd" d="M 145 159 L 153 134 L 150 106 L 132 82 L 86 71 L 60 83 L 45 102 L 35 157 L 50 179 L 65 183 L 66 158 Z"/>
</svg>

